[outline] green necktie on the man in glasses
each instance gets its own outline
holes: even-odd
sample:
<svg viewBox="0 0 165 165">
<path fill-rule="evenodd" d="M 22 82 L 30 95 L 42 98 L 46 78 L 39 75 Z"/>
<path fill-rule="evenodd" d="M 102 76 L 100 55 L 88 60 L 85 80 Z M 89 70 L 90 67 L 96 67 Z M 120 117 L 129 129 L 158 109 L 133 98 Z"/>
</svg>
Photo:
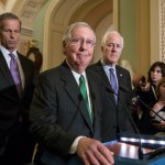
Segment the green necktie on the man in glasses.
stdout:
<svg viewBox="0 0 165 165">
<path fill-rule="evenodd" d="M 87 96 L 87 88 L 86 88 L 85 77 L 82 75 L 80 75 L 80 77 L 79 77 L 79 88 L 80 88 L 80 92 L 81 92 L 81 95 L 84 97 L 84 100 L 86 102 L 90 120 L 92 122 L 91 111 L 90 111 L 89 102 L 88 102 L 88 96 Z"/>
</svg>

